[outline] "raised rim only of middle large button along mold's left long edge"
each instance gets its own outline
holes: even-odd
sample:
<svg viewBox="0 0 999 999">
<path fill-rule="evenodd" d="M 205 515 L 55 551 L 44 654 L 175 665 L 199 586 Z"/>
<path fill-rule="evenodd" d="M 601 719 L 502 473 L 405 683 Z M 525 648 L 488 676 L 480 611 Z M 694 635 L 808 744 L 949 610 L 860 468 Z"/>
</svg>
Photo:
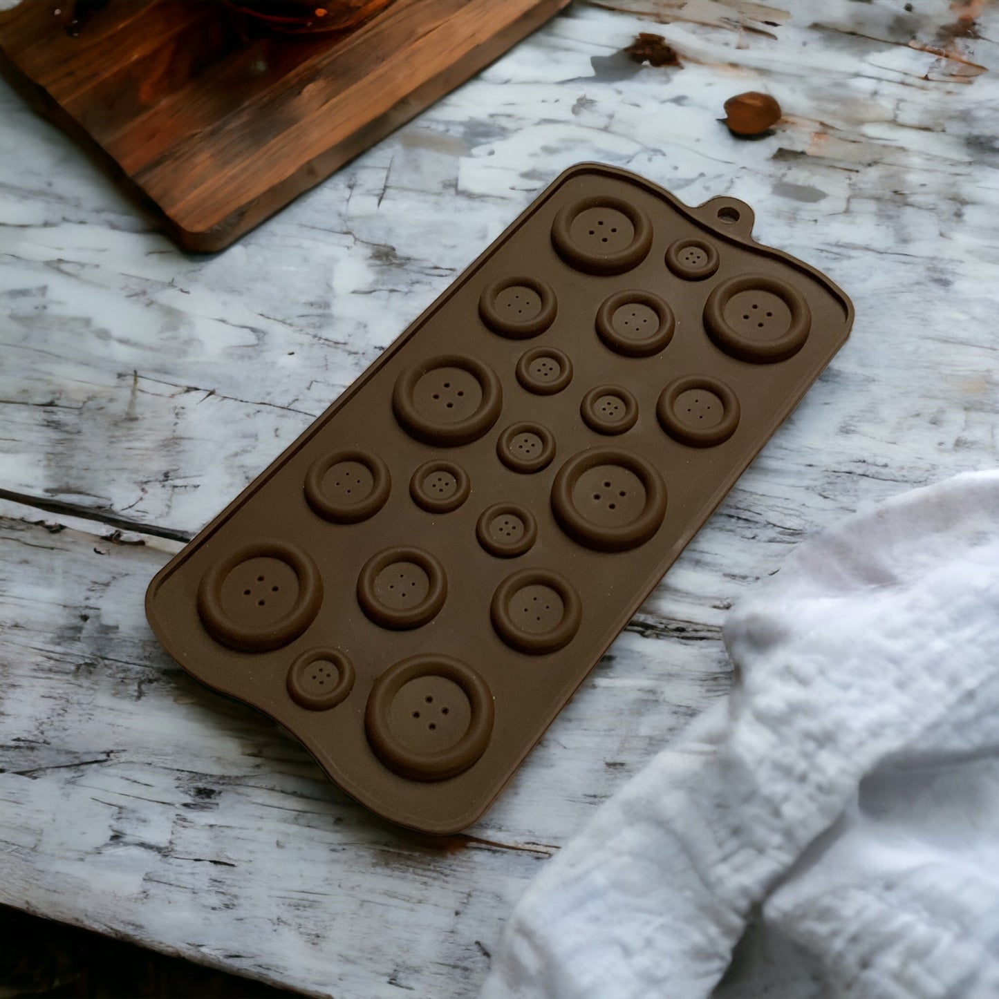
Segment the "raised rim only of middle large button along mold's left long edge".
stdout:
<svg viewBox="0 0 999 999">
<path fill-rule="evenodd" d="M 436 424 L 426 419 L 413 405 L 416 384 L 438 368 L 460 368 L 475 378 L 482 388 L 482 403 L 470 417 L 454 424 Z M 503 409 L 503 387 L 496 373 L 477 358 L 461 354 L 440 354 L 410 365 L 396 379 L 392 390 L 392 410 L 403 429 L 424 444 L 441 448 L 477 441 L 499 419 Z"/>
</svg>

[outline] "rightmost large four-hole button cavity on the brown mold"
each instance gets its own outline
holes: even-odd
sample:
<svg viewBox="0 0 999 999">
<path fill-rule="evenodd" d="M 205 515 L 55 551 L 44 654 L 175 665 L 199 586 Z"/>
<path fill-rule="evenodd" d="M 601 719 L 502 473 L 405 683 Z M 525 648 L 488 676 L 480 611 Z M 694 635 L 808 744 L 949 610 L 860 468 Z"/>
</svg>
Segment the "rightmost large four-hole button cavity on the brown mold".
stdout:
<svg viewBox="0 0 999 999">
<path fill-rule="evenodd" d="M 801 350 L 812 314 L 786 282 L 751 274 L 722 282 L 708 296 L 704 326 L 726 354 L 766 365 L 786 361 Z"/>
</svg>

